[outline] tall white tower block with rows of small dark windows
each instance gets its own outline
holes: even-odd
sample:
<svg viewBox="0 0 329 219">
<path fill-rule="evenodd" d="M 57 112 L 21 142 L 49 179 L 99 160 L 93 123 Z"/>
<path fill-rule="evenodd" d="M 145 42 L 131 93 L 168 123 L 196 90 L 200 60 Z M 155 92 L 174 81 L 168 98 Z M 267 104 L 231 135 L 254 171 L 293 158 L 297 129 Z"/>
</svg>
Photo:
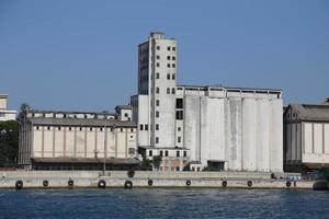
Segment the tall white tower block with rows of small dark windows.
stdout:
<svg viewBox="0 0 329 219">
<path fill-rule="evenodd" d="M 141 146 L 174 147 L 175 79 L 175 41 L 151 33 L 138 46 L 138 111 L 148 114 L 137 116 Z"/>
</svg>

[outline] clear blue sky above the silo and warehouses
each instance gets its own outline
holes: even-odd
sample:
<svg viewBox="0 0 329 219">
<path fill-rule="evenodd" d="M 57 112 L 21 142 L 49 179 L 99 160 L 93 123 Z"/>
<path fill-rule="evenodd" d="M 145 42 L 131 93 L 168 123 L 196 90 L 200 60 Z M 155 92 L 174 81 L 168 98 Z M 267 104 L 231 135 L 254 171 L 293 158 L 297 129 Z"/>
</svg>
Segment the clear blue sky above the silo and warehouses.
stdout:
<svg viewBox="0 0 329 219">
<path fill-rule="evenodd" d="M 151 31 L 178 41 L 179 83 L 329 96 L 327 0 L 0 0 L 0 93 L 15 110 L 113 111 Z"/>
</svg>

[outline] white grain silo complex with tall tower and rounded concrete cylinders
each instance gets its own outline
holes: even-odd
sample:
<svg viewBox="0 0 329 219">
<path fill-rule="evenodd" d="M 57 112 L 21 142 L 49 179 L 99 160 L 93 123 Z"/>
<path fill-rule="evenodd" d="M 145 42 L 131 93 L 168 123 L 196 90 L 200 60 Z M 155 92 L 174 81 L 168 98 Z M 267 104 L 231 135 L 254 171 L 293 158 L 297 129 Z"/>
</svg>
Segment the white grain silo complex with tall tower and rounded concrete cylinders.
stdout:
<svg viewBox="0 0 329 219">
<path fill-rule="evenodd" d="M 144 157 L 161 155 L 163 171 L 183 170 L 179 159 L 194 170 L 282 172 L 282 91 L 177 85 L 177 50 L 163 33 L 138 46 L 131 105 Z"/>
</svg>

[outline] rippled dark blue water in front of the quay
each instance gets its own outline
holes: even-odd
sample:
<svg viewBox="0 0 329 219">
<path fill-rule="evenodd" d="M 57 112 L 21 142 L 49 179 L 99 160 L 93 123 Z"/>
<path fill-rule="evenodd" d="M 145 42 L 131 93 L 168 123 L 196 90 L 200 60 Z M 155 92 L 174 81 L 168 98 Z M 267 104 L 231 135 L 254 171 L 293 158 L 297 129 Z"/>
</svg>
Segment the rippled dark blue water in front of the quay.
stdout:
<svg viewBox="0 0 329 219">
<path fill-rule="evenodd" d="M 0 189 L 0 218 L 328 218 L 329 192 Z"/>
</svg>

